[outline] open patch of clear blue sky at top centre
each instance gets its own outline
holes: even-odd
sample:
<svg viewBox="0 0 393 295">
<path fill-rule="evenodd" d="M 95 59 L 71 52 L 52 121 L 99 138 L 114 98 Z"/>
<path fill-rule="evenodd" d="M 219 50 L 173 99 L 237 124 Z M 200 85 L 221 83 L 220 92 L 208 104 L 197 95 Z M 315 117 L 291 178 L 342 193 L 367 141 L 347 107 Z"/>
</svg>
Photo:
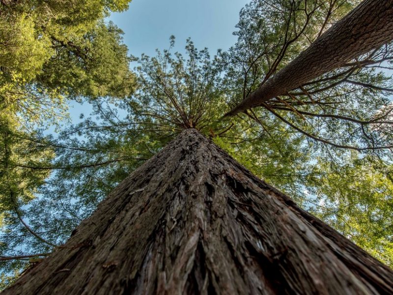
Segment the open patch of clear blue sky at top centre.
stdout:
<svg viewBox="0 0 393 295">
<path fill-rule="evenodd" d="M 208 47 L 215 54 L 235 43 L 232 32 L 249 1 L 133 0 L 126 12 L 114 13 L 110 20 L 124 31 L 124 42 L 137 57 L 168 48 L 170 35 L 176 37 L 176 51 L 181 52 L 191 37 L 198 49 Z"/>
</svg>

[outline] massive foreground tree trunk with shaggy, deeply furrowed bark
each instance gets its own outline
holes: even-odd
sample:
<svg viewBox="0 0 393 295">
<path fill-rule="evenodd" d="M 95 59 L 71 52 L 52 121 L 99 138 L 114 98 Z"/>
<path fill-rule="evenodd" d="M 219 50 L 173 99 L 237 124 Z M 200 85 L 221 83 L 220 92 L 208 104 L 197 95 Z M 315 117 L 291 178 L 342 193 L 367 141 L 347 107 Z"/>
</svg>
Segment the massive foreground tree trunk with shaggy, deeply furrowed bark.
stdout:
<svg viewBox="0 0 393 295">
<path fill-rule="evenodd" d="M 393 272 L 195 129 L 4 294 L 393 294 Z"/>
</svg>

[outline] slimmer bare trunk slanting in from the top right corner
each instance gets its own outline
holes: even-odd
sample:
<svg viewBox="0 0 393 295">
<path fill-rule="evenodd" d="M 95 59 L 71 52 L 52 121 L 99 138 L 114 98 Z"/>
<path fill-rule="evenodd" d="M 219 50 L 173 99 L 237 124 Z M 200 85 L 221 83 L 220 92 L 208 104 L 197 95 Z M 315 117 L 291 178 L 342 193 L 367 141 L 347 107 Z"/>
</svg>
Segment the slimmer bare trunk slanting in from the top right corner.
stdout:
<svg viewBox="0 0 393 295">
<path fill-rule="evenodd" d="M 226 115 L 260 106 L 391 40 L 393 0 L 365 0 Z"/>
</svg>

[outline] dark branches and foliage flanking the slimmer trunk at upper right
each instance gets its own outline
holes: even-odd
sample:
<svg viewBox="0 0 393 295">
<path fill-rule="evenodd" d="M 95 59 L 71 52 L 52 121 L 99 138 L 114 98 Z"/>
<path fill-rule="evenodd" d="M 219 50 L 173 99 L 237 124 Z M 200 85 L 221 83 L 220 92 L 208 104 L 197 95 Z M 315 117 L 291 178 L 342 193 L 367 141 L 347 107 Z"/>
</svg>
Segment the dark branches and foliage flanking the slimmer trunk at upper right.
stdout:
<svg viewBox="0 0 393 295">
<path fill-rule="evenodd" d="M 232 101 L 246 98 L 298 56 L 326 29 L 326 24 L 347 12 L 352 2 L 307 1 L 307 6 L 305 1 L 279 3 L 253 1 L 241 12 L 236 32 L 239 41 L 225 55 L 231 64 L 227 83 L 231 86 L 228 88 L 234 89 Z M 323 14 L 326 18 L 321 18 Z M 285 22 L 280 26 L 269 25 L 278 24 L 278 18 Z M 265 103 L 265 109 L 322 144 L 358 150 L 389 146 L 391 123 L 389 118 L 384 119 L 391 109 L 391 47 L 391 44 L 384 45 L 299 89 L 271 99 Z M 242 92 L 235 90 L 240 87 Z M 286 115 L 290 113 L 292 115 Z M 373 132 L 376 126 L 379 126 L 378 132 Z"/>
</svg>

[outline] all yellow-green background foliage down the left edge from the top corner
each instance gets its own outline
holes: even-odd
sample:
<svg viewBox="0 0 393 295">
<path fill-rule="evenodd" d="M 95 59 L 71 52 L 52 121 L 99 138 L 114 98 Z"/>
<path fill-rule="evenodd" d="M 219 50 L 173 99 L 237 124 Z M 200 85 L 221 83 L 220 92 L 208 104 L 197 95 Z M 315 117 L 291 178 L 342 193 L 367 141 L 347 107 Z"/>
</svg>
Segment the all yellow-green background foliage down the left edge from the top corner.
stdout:
<svg viewBox="0 0 393 295">
<path fill-rule="evenodd" d="M 0 1 L 0 216 L 20 230 L 20 240 L 31 235 L 31 247 L 46 251 L 56 243 L 56 236 L 32 230 L 26 212 L 51 169 L 24 166 L 48 166 L 58 148 L 42 130 L 67 118 L 70 99 L 115 99 L 133 91 L 122 31 L 104 22 L 128 2 Z M 9 244 L 2 240 L 0 247 Z"/>
</svg>

